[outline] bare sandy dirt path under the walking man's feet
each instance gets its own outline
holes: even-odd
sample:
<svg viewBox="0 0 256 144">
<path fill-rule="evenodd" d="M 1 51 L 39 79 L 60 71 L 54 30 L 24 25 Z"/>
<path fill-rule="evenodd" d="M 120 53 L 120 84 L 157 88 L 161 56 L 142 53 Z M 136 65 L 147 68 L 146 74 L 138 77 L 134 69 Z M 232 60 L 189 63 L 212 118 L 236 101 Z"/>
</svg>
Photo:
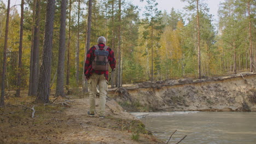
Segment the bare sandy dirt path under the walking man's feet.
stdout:
<svg viewBox="0 0 256 144">
<path fill-rule="evenodd" d="M 98 111 L 98 100 L 96 101 L 96 111 Z M 132 133 L 127 130 L 129 122 L 136 121 L 130 113 L 123 112 L 123 109 L 114 101 L 107 101 L 106 118 L 100 119 L 97 114 L 89 117 L 88 99 L 75 99 L 72 107 L 65 114 L 80 123 L 82 131 L 77 134 L 65 133 L 69 137 L 65 142 L 85 141 L 85 143 L 159 143 L 152 135 L 141 134 L 138 141 L 131 140 Z M 123 130 L 122 130 L 123 127 Z M 130 133 L 129 133 L 130 132 Z"/>
</svg>

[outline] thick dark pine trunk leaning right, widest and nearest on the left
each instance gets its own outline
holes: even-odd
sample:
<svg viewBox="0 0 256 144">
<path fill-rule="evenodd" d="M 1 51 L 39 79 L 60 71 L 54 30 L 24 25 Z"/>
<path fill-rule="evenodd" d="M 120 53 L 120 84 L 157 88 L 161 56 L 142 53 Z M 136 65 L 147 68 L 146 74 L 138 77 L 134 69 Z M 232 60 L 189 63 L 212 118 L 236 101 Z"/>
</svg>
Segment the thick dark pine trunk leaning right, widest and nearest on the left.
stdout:
<svg viewBox="0 0 256 144">
<path fill-rule="evenodd" d="M 53 25 L 54 25 L 54 3 L 55 0 L 48 0 L 45 20 L 45 34 L 42 66 L 40 67 L 39 85 L 37 91 L 38 103 L 49 103 L 50 76 L 51 76 L 51 55 L 53 47 Z"/>
</svg>

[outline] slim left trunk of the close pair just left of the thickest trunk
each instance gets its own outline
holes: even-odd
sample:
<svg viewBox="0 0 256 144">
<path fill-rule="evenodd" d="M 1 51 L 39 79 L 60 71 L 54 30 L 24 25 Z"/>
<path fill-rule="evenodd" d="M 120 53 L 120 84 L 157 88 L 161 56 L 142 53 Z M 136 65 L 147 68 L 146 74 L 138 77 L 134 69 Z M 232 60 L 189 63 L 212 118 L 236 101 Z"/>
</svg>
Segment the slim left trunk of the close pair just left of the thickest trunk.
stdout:
<svg viewBox="0 0 256 144">
<path fill-rule="evenodd" d="M 33 70 L 33 46 L 34 46 L 34 21 L 37 0 L 33 0 L 33 20 L 32 20 L 32 37 L 31 37 L 31 50 L 30 50 L 30 81 L 28 86 L 28 95 L 32 95 L 32 70 Z"/>
</svg>

